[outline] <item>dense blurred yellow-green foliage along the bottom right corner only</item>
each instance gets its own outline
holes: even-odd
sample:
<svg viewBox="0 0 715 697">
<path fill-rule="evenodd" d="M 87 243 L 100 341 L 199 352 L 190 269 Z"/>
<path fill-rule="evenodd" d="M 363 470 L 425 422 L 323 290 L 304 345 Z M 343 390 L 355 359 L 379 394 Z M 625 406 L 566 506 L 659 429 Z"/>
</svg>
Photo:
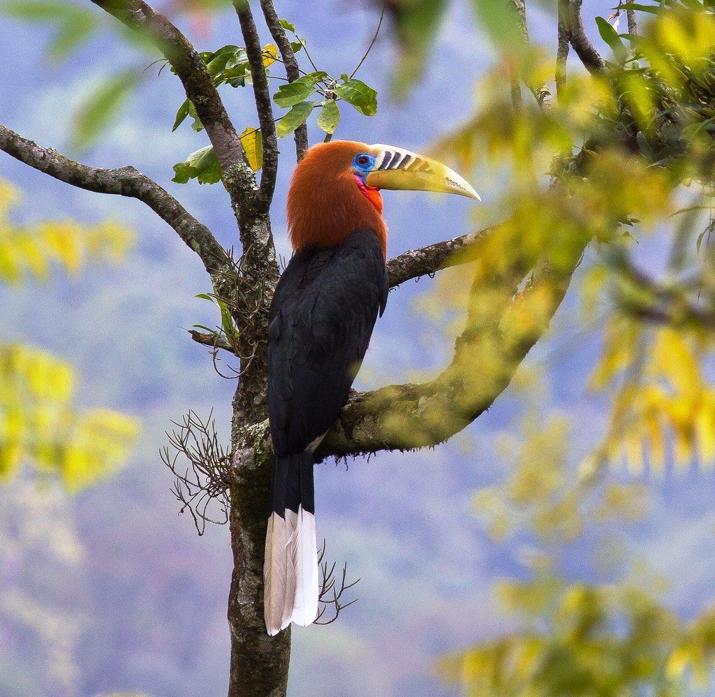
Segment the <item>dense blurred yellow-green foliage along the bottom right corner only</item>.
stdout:
<svg viewBox="0 0 715 697">
<path fill-rule="evenodd" d="M 501 591 L 533 628 L 445 658 L 467 694 L 670 697 L 710 684 L 715 611 L 684 622 L 641 588 L 548 576 Z"/>
</svg>

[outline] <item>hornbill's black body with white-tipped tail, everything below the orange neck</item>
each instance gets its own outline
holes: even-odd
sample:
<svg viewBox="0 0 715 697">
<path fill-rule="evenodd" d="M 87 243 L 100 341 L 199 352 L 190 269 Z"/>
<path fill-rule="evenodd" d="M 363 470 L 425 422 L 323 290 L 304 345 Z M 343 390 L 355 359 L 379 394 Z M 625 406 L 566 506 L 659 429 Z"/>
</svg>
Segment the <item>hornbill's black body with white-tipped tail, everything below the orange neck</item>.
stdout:
<svg viewBox="0 0 715 697">
<path fill-rule="evenodd" d="M 265 566 L 269 633 L 315 619 L 312 450 L 347 401 L 387 298 L 385 259 L 370 229 L 356 230 L 337 247 L 296 253 L 276 287 L 268 327 L 275 451 Z"/>
</svg>

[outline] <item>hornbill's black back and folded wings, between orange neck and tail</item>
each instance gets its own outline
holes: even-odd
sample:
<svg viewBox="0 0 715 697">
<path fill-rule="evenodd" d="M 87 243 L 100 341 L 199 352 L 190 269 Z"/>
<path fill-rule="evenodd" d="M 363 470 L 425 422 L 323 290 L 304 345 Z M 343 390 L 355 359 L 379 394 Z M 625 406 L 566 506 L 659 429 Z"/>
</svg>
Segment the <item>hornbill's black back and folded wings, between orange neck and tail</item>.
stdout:
<svg viewBox="0 0 715 697">
<path fill-rule="evenodd" d="M 277 455 L 302 452 L 335 421 L 387 298 L 383 252 L 368 229 L 340 247 L 292 257 L 268 327 L 268 414 Z"/>
</svg>

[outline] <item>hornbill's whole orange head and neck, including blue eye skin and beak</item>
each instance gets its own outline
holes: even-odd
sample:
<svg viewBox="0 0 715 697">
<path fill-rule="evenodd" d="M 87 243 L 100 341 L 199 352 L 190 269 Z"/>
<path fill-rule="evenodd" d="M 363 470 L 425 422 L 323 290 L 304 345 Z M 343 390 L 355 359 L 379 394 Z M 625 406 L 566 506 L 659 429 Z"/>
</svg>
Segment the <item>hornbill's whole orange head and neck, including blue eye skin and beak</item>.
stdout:
<svg viewBox="0 0 715 697">
<path fill-rule="evenodd" d="M 369 227 L 387 247 L 381 189 L 479 195 L 441 162 L 390 145 L 337 140 L 315 145 L 295 168 L 288 192 L 290 240 L 297 252 L 332 247 Z"/>
</svg>

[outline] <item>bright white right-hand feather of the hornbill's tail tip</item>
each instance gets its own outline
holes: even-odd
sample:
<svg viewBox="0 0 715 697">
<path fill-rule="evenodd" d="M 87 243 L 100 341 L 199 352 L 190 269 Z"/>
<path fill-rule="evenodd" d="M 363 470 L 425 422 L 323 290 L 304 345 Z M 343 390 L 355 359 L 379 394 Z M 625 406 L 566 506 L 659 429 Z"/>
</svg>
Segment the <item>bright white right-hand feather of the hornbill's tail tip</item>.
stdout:
<svg viewBox="0 0 715 697">
<path fill-rule="evenodd" d="M 307 627 L 317 617 L 317 540 L 315 515 L 298 507 L 295 540 L 290 545 L 295 568 L 295 600 L 292 621 Z"/>
</svg>

